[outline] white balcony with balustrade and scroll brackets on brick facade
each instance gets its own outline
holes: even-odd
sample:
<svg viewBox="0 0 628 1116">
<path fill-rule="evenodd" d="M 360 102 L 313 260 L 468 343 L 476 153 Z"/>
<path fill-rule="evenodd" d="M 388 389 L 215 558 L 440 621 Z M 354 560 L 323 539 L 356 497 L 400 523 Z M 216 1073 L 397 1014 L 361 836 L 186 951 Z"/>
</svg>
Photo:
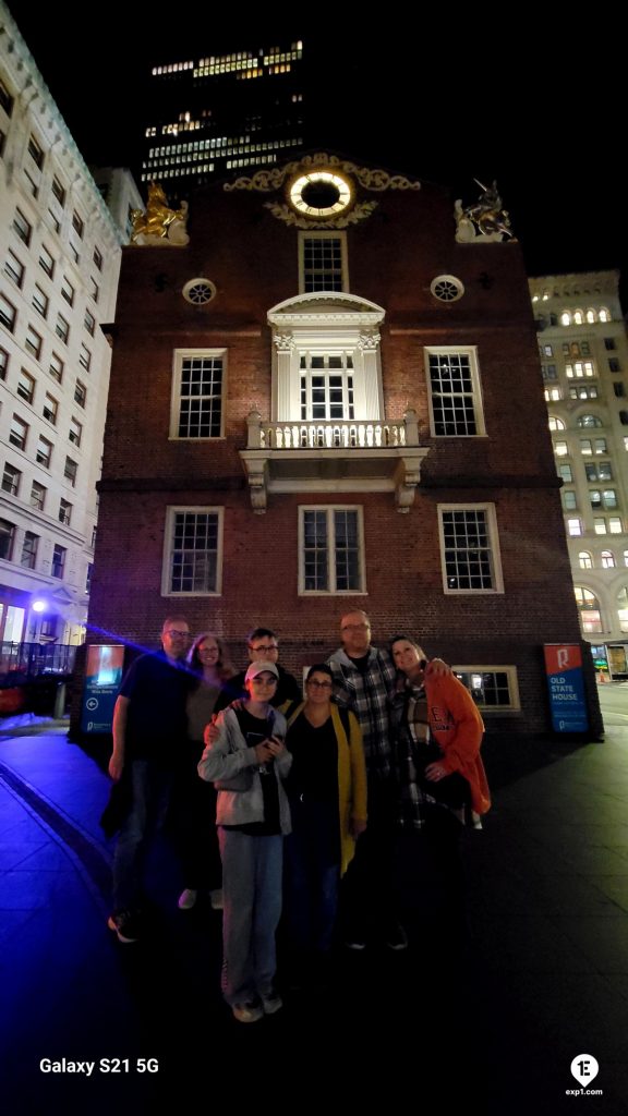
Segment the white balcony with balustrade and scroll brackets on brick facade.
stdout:
<svg viewBox="0 0 628 1116">
<path fill-rule="evenodd" d="M 394 492 L 407 512 L 428 452 L 413 410 L 396 422 L 263 422 L 251 411 L 240 456 L 258 513 L 269 492 Z"/>
</svg>

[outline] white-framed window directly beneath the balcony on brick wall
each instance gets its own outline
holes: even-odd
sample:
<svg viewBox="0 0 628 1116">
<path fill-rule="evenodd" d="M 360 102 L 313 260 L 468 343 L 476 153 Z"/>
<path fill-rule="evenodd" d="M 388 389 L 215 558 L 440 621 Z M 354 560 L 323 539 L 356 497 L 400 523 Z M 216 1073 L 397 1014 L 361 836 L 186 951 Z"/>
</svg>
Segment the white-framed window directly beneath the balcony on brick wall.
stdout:
<svg viewBox="0 0 628 1116">
<path fill-rule="evenodd" d="M 361 509 L 299 513 L 299 593 L 364 593 Z"/>
</svg>

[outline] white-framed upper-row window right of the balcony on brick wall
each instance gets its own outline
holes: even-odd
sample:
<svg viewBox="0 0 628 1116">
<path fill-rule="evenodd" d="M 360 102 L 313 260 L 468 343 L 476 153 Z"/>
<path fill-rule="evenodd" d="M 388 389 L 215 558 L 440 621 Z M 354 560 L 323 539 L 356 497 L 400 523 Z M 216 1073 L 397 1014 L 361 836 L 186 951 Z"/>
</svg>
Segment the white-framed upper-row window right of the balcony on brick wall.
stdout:
<svg viewBox="0 0 628 1116">
<path fill-rule="evenodd" d="M 432 433 L 484 434 L 475 349 L 427 349 Z"/>
</svg>

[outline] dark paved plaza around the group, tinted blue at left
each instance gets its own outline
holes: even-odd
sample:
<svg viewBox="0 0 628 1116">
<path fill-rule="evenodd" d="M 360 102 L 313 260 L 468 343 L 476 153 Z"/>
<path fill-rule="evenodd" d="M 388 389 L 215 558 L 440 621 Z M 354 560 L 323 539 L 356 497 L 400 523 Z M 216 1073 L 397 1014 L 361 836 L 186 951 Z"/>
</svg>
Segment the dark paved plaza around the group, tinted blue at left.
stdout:
<svg viewBox="0 0 628 1116">
<path fill-rule="evenodd" d="M 270 1088 L 291 1108 L 372 1107 L 381 1095 L 387 1112 L 628 1113 L 627 729 L 503 788 L 484 830 L 466 835 L 464 956 L 426 923 L 413 949 L 345 953 L 327 992 L 250 1028 L 220 1001 L 220 917 L 209 904 L 177 910 L 164 844 L 151 873 L 154 936 L 122 947 L 107 931 L 107 795 L 61 730 L 0 738 L 10 1116 L 141 1116 L 170 1093 L 184 1110 L 241 1108 L 249 1094 L 270 1101 Z M 599 1062 L 591 1088 L 602 1096 L 565 1096 L 583 1054 Z M 91 1077 L 45 1074 L 42 1058 L 96 1066 Z M 99 1065 L 112 1058 L 117 1074 Z M 159 1059 L 159 1071 L 140 1072 L 137 1059 Z"/>
</svg>

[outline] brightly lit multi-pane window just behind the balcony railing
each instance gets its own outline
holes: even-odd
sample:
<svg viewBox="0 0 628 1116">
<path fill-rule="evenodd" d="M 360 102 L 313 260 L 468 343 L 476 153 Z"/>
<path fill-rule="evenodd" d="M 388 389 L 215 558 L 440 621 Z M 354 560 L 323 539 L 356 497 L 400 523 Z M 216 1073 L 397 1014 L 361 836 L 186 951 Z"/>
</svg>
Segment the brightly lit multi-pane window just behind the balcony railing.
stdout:
<svg viewBox="0 0 628 1116">
<path fill-rule="evenodd" d="M 301 417 L 353 419 L 353 356 L 351 353 L 299 355 Z"/>
</svg>

